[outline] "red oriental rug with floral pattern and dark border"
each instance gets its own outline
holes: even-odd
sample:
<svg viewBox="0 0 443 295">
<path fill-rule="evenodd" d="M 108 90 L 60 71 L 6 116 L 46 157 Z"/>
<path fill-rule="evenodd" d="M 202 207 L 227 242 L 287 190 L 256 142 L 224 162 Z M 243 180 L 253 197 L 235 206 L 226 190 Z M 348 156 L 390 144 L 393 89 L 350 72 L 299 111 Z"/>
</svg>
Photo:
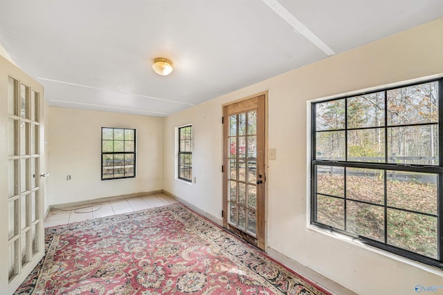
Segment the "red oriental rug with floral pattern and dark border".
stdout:
<svg viewBox="0 0 443 295">
<path fill-rule="evenodd" d="M 16 294 L 329 294 L 173 204 L 46 229 Z"/>
</svg>

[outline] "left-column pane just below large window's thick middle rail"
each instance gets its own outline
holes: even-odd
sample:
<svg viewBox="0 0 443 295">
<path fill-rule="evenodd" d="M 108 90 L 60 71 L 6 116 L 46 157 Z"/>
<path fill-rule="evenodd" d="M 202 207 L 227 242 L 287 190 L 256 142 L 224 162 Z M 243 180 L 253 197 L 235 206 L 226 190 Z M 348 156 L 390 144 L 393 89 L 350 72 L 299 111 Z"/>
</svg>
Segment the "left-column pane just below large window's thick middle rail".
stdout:
<svg viewBox="0 0 443 295">
<path fill-rule="evenodd" d="M 345 169 L 334 166 L 316 166 L 317 193 L 345 196 Z"/>
</svg>

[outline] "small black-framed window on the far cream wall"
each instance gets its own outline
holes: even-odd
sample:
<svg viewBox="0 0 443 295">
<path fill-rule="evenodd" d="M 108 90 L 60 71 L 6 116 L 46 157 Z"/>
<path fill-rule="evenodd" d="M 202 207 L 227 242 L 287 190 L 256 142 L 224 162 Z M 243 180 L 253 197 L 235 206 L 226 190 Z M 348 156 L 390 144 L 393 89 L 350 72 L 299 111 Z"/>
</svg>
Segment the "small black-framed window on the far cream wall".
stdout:
<svg viewBox="0 0 443 295">
<path fill-rule="evenodd" d="M 136 130 L 102 127 L 102 180 L 136 176 Z"/>
</svg>

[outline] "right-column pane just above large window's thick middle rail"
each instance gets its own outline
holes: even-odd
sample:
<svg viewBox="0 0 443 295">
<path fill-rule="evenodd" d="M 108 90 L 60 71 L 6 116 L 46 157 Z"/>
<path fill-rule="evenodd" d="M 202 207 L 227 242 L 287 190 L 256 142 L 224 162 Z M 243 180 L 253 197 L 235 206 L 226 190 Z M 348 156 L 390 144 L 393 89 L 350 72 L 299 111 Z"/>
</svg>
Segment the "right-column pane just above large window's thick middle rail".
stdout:
<svg viewBox="0 0 443 295">
<path fill-rule="evenodd" d="M 388 162 L 438 165 L 438 126 L 388 128 Z"/>
</svg>

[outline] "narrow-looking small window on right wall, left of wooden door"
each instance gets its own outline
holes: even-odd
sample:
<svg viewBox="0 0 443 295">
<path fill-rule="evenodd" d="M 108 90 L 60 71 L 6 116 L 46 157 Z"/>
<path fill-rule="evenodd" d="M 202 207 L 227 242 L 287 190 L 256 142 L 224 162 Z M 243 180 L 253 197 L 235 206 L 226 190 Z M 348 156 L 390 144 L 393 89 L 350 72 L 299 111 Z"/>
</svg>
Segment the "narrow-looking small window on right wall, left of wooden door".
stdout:
<svg viewBox="0 0 443 295">
<path fill-rule="evenodd" d="M 192 126 L 179 128 L 179 179 L 192 180 Z"/>
</svg>

